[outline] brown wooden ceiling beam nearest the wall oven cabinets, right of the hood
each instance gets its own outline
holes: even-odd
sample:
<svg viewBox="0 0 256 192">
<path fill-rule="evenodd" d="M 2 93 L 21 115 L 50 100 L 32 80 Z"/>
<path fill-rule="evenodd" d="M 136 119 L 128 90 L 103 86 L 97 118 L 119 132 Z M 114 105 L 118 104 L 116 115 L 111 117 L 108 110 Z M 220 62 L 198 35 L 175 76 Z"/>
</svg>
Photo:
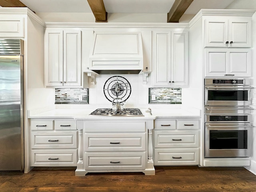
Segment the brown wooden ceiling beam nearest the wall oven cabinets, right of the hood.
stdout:
<svg viewBox="0 0 256 192">
<path fill-rule="evenodd" d="M 167 14 L 167 22 L 178 23 L 181 16 L 184 14 L 184 12 L 187 10 L 192 2 L 193 0 L 175 0 L 172 8 Z"/>
</svg>

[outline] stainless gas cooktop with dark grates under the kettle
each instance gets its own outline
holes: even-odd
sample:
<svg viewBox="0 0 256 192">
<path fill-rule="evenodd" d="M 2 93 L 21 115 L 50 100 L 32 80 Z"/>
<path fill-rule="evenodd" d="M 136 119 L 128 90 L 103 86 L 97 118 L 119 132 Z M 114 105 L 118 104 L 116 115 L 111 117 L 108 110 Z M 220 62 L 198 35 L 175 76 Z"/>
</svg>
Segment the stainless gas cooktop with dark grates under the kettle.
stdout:
<svg viewBox="0 0 256 192">
<path fill-rule="evenodd" d="M 143 117 L 144 115 L 138 108 L 124 108 L 120 112 L 114 112 L 111 108 L 98 108 L 90 115 L 94 116 L 136 116 L 136 117 Z"/>
</svg>

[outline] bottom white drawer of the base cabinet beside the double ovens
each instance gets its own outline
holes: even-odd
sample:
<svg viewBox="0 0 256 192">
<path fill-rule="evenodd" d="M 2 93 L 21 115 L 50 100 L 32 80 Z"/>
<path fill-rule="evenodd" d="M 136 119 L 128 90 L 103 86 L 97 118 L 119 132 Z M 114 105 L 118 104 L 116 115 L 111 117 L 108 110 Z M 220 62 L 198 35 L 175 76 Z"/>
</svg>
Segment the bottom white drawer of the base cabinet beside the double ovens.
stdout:
<svg viewBox="0 0 256 192">
<path fill-rule="evenodd" d="M 155 149 L 154 165 L 197 165 L 199 149 Z"/>
</svg>

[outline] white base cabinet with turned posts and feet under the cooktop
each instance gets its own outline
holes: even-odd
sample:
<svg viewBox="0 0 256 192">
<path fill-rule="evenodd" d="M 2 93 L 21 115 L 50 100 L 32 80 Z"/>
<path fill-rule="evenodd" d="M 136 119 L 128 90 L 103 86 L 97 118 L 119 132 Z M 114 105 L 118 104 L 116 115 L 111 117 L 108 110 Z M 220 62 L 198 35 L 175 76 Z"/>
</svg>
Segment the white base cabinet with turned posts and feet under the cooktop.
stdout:
<svg viewBox="0 0 256 192">
<path fill-rule="evenodd" d="M 76 175 L 110 170 L 154 175 L 151 124 L 153 120 L 78 121 Z"/>
</svg>

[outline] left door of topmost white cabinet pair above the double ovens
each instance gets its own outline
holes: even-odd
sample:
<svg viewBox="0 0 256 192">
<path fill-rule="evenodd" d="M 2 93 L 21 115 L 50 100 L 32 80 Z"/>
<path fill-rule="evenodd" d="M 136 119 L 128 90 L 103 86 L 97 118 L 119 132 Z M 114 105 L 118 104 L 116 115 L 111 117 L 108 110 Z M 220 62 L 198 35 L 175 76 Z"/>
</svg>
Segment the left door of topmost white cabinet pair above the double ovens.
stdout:
<svg viewBox="0 0 256 192">
<path fill-rule="evenodd" d="M 227 47 L 228 19 L 205 20 L 205 47 Z"/>
</svg>

